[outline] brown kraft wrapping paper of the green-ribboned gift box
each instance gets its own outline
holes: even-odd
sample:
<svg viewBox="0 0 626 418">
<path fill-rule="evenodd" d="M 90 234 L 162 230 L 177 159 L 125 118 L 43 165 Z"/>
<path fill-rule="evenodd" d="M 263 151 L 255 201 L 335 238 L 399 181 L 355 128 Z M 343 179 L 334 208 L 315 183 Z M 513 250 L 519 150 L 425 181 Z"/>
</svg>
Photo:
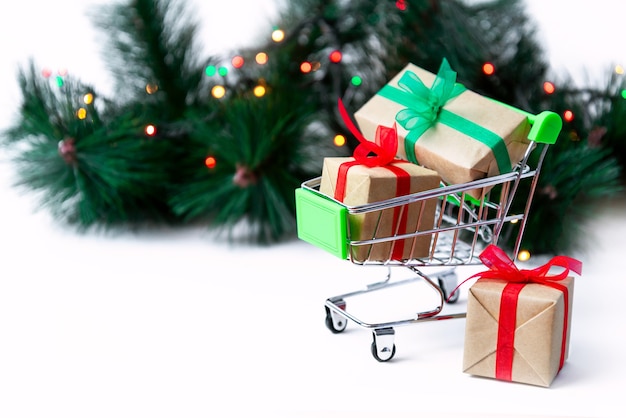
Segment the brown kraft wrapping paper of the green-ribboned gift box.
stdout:
<svg viewBox="0 0 626 418">
<path fill-rule="evenodd" d="M 398 80 L 406 71 L 413 71 L 428 87 L 435 79 L 435 74 L 409 64 L 389 85 L 398 87 Z M 376 127 L 393 125 L 396 114 L 404 108 L 377 94 L 354 117 L 363 135 L 374 138 Z M 503 138 L 509 151 L 511 167 L 523 158 L 529 144 L 527 137 L 530 131 L 526 116 L 470 90 L 447 102 L 444 108 Z M 406 134 L 407 131 L 398 125 L 398 155 L 405 159 Z M 493 152 L 487 145 L 441 123 L 436 123 L 417 140 L 415 155 L 420 165 L 437 171 L 448 184 L 467 183 L 500 174 Z"/>
</svg>

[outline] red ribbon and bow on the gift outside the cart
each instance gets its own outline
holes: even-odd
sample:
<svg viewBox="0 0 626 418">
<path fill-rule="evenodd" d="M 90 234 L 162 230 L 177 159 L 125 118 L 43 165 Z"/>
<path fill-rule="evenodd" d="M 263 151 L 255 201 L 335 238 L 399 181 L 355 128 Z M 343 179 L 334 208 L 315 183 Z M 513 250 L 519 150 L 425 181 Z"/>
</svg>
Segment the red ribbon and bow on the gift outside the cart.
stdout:
<svg viewBox="0 0 626 418">
<path fill-rule="evenodd" d="M 502 291 L 500 298 L 500 313 L 498 320 L 498 342 L 496 348 L 496 378 L 511 380 L 513 370 L 513 353 L 515 351 L 515 327 L 517 315 L 517 300 L 522 288 L 528 283 L 538 283 L 549 286 L 563 292 L 564 318 L 563 335 L 561 339 L 561 357 L 559 370 L 565 362 L 567 330 L 569 327 L 569 292 L 567 287 L 558 283 L 568 277 L 573 271 L 582 274 L 582 262 L 571 257 L 556 256 L 543 266 L 532 270 L 518 269 L 513 260 L 495 245 L 489 245 L 480 254 L 480 260 L 489 267 L 489 270 L 477 273 L 459 284 L 452 294 L 466 281 L 473 278 L 500 279 L 508 283 Z M 564 270 L 559 274 L 548 275 L 552 267 L 562 267 Z"/>
</svg>

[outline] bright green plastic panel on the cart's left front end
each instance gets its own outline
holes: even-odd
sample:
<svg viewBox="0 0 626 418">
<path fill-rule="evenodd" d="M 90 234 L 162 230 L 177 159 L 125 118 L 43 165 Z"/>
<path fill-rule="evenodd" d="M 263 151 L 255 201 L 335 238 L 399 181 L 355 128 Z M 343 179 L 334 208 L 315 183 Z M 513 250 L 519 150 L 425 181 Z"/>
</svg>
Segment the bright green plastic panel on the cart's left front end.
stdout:
<svg viewBox="0 0 626 418">
<path fill-rule="evenodd" d="M 348 258 L 347 209 L 310 190 L 296 189 L 298 238 L 341 258 Z"/>
</svg>

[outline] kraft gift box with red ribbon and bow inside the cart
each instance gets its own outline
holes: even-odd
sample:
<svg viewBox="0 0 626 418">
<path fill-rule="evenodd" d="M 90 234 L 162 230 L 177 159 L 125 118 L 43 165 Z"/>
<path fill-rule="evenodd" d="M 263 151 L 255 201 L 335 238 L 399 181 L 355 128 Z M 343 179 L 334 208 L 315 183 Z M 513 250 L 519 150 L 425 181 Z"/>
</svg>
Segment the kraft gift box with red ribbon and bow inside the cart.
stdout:
<svg viewBox="0 0 626 418">
<path fill-rule="evenodd" d="M 324 159 L 321 193 L 347 206 L 358 206 L 439 187 L 441 178 L 435 171 L 395 158 L 398 141 L 395 127 L 379 126 L 374 133 L 375 141 L 368 141 L 351 123 L 342 105 L 340 111 L 360 145 L 353 157 Z M 369 156 L 372 152 L 375 157 Z M 348 220 L 350 239 L 362 241 L 432 229 L 436 203 L 429 199 L 370 213 L 351 214 Z M 431 236 L 425 234 L 354 246 L 352 257 L 360 262 L 425 257 L 430 242 Z"/>
</svg>

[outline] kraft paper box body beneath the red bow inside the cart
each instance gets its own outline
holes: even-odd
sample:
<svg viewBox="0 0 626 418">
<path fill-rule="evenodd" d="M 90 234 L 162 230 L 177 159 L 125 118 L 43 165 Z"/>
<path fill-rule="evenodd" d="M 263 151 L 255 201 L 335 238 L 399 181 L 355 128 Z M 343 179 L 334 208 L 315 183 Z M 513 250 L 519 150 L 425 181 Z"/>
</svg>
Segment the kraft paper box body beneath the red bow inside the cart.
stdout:
<svg viewBox="0 0 626 418">
<path fill-rule="evenodd" d="M 354 157 L 328 157 L 324 159 L 320 192 L 335 197 L 340 167 L 351 165 L 345 173 L 345 193 L 339 200 L 347 206 L 357 206 L 378 202 L 398 196 L 398 169 L 405 172 L 409 180 L 402 194 L 417 193 L 436 189 L 440 185 L 439 175 L 429 169 L 407 161 L 390 163 L 387 166 L 367 167 L 355 164 Z M 393 168 L 390 169 L 389 167 Z M 344 166 L 345 167 L 345 166 Z M 395 171 L 395 172 L 394 172 Z M 351 214 L 349 230 L 351 240 L 366 240 L 374 237 L 389 237 L 394 232 L 408 233 L 433 228 L 435 199 L 415 202 L 405 206 L 403 211 L 393 208 L 366 214 Z M 356 261 L 406 260 L 425 257 L 429 254 L 430 234 L 371 245 L 354 246 L 352 257 Z"/>
</svg>

